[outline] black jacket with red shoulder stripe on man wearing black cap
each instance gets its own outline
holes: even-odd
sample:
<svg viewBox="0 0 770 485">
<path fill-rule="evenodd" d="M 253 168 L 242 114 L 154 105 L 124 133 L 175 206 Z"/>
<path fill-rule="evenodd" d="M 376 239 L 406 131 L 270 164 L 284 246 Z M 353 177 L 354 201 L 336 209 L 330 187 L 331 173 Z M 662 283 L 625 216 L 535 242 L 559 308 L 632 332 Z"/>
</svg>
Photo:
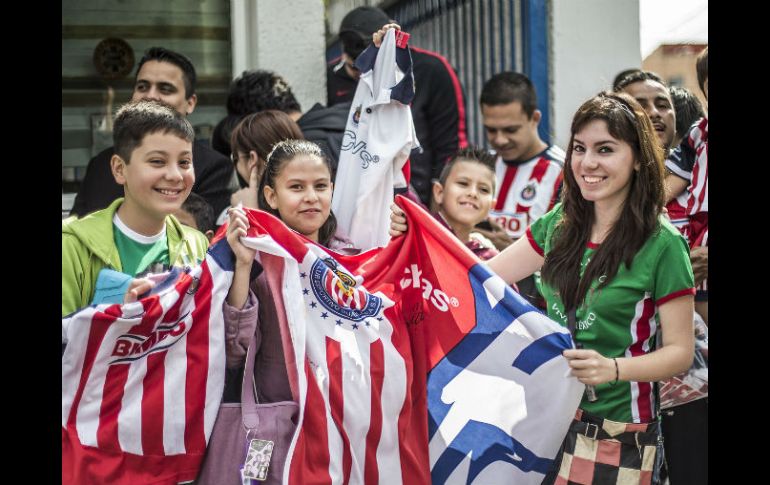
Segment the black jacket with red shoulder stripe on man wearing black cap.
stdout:
<svg viewBox="0 0 770 485">
<path fill-rule="evenodd" d="M 414 150 L 411 161 L 412 186 L 426 205 L 430 202 L 431 179 L 437 179 L 446 161 L 466 143 L 465 94 L 448 61 L 435 52 L 414 47 L 412 69 L 415 94 L 412 119 L 422 146 Z M 358 81 L 348 76 L 344 67 L 326 71 L 327 104 L 352 101 Z"/>
</svg>

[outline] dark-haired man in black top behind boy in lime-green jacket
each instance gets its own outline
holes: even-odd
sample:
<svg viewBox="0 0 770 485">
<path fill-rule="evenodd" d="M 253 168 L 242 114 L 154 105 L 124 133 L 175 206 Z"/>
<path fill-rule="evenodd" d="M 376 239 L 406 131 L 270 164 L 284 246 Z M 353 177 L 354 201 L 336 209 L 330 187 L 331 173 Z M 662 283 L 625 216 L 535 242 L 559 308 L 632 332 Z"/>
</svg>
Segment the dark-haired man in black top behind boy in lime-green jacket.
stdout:
<svg viewBox="0 0 770 485">
<path fill-rule="evenodd" d="M 160 100 L 187 116 L 198 101 L 195 83 L 195 68 L 187 57 L 163 47 L 152 47 L 139 61 L 131 100 Z M 107 148 L 88 162 L 72 214 L 82 217 L 123 197 L 123 186 L 115 182 L 110 168 L 114 153 L 113 147 Z M 195 184 L 192 191 L 206 199 L 214 213 L 219 214 L 230 203 L 232 162 L 203 143 L 193 143 L 193 167 Z"/>
</svg>

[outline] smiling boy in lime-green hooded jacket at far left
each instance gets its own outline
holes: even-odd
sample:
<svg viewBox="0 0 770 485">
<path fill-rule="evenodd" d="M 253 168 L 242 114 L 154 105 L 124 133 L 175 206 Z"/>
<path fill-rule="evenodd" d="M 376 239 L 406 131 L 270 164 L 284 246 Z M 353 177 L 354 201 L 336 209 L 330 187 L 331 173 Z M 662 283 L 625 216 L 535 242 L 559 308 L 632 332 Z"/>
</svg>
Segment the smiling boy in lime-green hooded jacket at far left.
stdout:
<svg viewBox="0 0 770 485">
<path fill-rule="evenodd" d="M 125 197 L 62 221 L 62 316 L 88 306 L 104 268 L 134 276 L 125 301 L 149 290 L 141 277 L 197 265 L 208 240 L 171 215 L 195 182 L 190 122 L 158 101 L 123 106 L 113 125 L 112 175 Z"/>
</svg>

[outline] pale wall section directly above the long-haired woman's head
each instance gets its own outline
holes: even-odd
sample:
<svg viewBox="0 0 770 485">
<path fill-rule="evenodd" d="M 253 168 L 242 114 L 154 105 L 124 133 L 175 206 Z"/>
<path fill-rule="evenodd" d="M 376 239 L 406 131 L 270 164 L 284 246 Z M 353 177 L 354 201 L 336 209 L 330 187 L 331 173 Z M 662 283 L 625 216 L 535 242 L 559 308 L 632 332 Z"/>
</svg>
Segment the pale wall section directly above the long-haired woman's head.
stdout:
<svg viewBox="0 0 770 485">
<path fill-rule="evenodd" d="M 566 149 L 580 105 L 642 65 L 639 0 L 551 0 L 551 9 L 551 132 Z"/>
</svg>

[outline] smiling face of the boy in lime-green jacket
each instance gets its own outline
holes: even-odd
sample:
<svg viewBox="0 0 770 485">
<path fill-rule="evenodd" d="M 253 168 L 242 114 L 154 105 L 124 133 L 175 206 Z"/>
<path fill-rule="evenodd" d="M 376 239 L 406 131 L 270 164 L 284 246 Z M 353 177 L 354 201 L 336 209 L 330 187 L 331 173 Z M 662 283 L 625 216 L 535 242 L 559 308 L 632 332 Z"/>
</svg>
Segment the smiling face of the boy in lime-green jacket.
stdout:
<svg viewBox="0 0 770 485">
<path fill-rule="evenodd" d="M 195 183 L 192 143 L 170 133 L 150 133 L 131 152 L 129 163 L 113 156 L 112 173 L 125 192 L 120 218 L 139 233 L 152 231 L 190 195 Z"/>
</svg>

